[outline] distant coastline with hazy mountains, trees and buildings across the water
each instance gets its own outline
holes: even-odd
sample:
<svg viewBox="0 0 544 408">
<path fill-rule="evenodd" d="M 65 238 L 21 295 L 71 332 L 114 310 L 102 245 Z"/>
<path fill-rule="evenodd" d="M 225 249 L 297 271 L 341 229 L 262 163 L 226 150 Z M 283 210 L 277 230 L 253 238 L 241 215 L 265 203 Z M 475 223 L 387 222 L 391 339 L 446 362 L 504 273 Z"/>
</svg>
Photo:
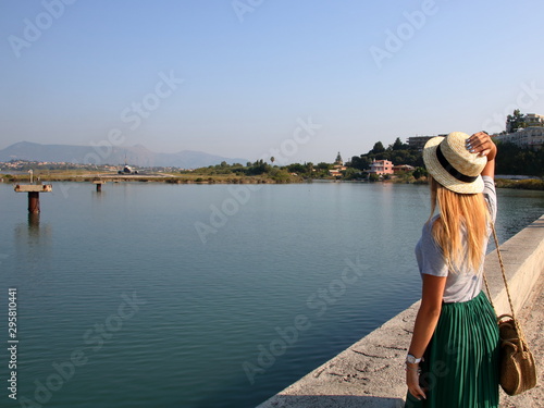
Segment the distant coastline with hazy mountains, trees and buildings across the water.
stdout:
<svg viewBox="0 0 544 408">
<path fill-rule="evenodd" d="M 0 176 L 3 183 L 25 183 L 33 173 L 34 178 L 40 182 L 96 183 L 102 180 L 113 183 L 290 184 L 329 181 L 426 184 L 428 173 L 421 148 L 411 139 L 404 144 L 397 137 L 387 147 L 378 141 L 367 153 L 354 156 L 347 161 L 338 151 L 333 162 L 290 164 L 283 163 L 285 158 L 273 156 L 251 162 L 195 151 L 154 153 L 143 146 L 89 152 L 89 147 L 82 146 L 18 143 L 0 150 Z M 497 187 L 544 190 L 544 173 L 540 164 L 544 160 L 544 148 L 534 150 L 511 143 L 499 145 L 502 158 L 497 161 L 496 172 L 503 175 L 496 176 Z M 98 157 L 99 153 L 103 157 Z M 92 157 L 95 159 L 90 160 Z M 122 162 L 124 164 L 119 164 Z M 521 175 L 528 173 L 534 176 Z"/>
</svg>

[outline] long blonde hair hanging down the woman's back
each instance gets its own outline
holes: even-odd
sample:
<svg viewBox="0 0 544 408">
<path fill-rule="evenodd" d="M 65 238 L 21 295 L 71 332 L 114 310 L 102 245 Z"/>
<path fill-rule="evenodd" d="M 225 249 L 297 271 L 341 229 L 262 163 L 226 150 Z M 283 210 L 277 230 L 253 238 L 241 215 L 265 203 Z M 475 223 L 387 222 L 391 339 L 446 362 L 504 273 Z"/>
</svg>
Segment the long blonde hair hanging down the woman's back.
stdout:
<svg viewBox="0 0 544 408">
<path fill-rule="evenodd" d="M 442 248 L 450 265 L 468 262 L 478 272 L 484 255 L 490 212 L 483 194 L 458 194 L 442 186 L 433 177 L 431 182 L 431 222 L 436 205 L 440 215 L 432 225 L 432 235 Z M 465 226 L 465 234 L 462 231 Z M 463 235 L 467 246 L 463 247 Z"/>
</svg>

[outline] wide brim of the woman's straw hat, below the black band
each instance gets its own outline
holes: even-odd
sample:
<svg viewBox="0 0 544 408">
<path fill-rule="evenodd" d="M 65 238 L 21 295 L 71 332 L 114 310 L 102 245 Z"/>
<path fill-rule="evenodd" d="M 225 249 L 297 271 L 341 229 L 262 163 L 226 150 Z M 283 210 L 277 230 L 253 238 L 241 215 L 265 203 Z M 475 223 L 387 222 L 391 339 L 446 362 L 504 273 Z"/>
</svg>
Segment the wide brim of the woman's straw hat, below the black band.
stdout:
<svg viewBox="0 0 544 408">
<path fill-rule="evenodd" d="M 447 189 L 459 194 L 478 194 L 483 191 L 483 180 L 479 175 L 472 183 L 465 183 L 449 174 L 436 158 L 436 149 L 444 137 L 436 136 L 429 139 L 423 148 L 423 162 L 426 171 L 433 178 Z"/>
</svg>

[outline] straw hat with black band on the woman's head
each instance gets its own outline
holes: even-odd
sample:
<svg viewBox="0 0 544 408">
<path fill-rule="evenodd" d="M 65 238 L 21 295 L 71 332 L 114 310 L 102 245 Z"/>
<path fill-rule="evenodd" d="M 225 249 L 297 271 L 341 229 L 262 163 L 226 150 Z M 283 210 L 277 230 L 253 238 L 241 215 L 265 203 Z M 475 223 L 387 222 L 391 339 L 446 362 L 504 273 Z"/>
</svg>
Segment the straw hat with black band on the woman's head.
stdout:
<svg viewBox="0 0 544 408">
<path fill-rule="evenodd" d="M 433 137 L 423 148 L 423 161 L 429 174 L 447 189 L 459 194 L 482 193 L 483 180 L 480 173 L 487 163 L 487 158 L 468 151 L 468 138 L 469 135 L 462 132 Z"/>
</svg>

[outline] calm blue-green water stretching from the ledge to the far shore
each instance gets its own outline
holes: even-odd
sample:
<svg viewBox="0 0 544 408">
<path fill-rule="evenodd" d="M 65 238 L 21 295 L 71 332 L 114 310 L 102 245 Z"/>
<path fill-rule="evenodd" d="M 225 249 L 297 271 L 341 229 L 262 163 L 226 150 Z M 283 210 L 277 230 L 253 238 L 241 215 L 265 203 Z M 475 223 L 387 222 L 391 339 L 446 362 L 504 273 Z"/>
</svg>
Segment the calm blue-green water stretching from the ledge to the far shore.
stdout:
<svg viewBox="0 0 544 408">
<path fill-rule="evenodd" d="M 426 187 L 233 188 L 57 183 L 37 222 L 0 185 L 1 406 L 255 407 L 418 299 Z M 500 190 L 502 242 L 543 212 Z"/>
</svg>

